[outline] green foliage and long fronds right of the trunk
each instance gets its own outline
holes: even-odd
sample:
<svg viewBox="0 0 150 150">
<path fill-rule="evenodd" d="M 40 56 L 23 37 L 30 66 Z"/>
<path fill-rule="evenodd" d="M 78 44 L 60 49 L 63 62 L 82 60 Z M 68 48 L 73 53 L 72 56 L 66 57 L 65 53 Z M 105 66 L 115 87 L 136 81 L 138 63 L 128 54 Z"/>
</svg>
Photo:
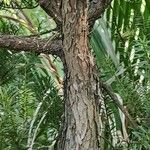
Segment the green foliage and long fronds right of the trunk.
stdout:
<svg viewBox="0 0 150 150">
<path fill-rule="evenodd" d="M 124 123 L 128 136 L 132 135 L 129 136 L 131 141 L 128 144 L 129 149 L 149 149 L 150 145 L 149 4 L 149 1 L 142 0 L 113 1 L 104 17 L 96 22 L 91 37 L 91 45 L 102 80 L 121 96 L 124 107 L 141 126 L 140 129 L 131 130 L 131 124 Z M 119 142 L 111 133 L 112 131 L 119 135 L 117 133 L 119 130 L 120 139 L 127 141 L 123 135 L 122 116 L 108 95 L 105 103 L 107 116 L 105 130 L 109 131 L 109 134 L 104 138 L 109 139 L 109 143 L 116 149 L 118 146 L 119 149 L 124 149 L 124 143 Z M 110 123 L 110 119 L 113 123 Z M 113 144 L 113 140 L 118 142 Z M 136 140 L 141 142 L 135 142 Z M 128 149 L 127 146 L 125 149 Z"/>
</svg>

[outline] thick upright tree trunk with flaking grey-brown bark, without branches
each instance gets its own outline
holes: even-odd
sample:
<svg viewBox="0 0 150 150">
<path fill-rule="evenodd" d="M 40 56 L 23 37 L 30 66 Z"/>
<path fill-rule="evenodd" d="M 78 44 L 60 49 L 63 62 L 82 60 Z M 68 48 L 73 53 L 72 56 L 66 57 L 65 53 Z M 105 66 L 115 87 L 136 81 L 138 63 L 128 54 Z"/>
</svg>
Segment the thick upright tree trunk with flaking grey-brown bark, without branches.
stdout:
<svg viewBox="0 0 150 150">
<path fill-rule="evenodd" d="M 98 150 L 98 83 L 88 47 L 87 0 L 64 0 L 65 121 L 57 150 Z"/>
</svg>

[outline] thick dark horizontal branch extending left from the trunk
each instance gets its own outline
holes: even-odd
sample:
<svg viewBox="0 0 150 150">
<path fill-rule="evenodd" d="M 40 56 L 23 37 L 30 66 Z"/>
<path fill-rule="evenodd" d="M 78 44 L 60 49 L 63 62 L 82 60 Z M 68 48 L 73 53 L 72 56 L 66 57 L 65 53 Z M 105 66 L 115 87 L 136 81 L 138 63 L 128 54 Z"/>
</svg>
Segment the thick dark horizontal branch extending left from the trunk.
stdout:
<svg viewBox="0 0 150 150">
<path fill-rule="evenodd" d="M 38 52 L 63 57 L 61 39 L 40 39 L 37 37 L 19 37 L 0 35 L 0 48 L 8 48 L 17 52 Z"/>
</svg>

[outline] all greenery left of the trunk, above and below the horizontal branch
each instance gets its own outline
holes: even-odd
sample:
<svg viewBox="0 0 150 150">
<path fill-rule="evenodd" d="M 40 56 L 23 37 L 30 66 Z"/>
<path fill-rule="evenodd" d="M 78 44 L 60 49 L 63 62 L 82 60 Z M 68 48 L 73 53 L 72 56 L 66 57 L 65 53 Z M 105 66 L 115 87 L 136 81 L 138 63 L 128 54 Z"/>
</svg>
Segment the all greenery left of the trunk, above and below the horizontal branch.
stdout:
<svg viewBox="0 0 150 150">
<path fill-rule="evenodd" d="M 15 5 L 3 1 L 0 33 L 52 36 L 54 21 L 36 5 L 35 1 L 22 0 Z M 17 9 L 11 9 L 12 6 Z M 54 142 L 60 128 L 63 98 L 47 59 L 0 49 L 0 149 L 48 149 Z M 52 63 L 59 70 L 58 75 L 63 76 L 61 62 L 55 59 Z"/>
</svg>

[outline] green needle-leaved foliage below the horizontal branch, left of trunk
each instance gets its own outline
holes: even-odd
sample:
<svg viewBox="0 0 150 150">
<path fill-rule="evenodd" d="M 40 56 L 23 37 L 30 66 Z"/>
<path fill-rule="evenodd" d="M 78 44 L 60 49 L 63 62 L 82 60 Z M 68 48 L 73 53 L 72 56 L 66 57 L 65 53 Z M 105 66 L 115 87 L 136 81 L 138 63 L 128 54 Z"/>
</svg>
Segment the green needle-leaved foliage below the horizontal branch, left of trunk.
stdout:
<svg viewBox="0 0 150 150">
<path fill-rule="evenodd" d="M 34 135 L 33 148 L 48 147 L 59 130 L 63 112 L 61 95 L 46 69 L 38 68 L 41 61 L 37 56 L 5 52 L 0 59 L 0 148 L 25 149 Z"/>
</svg>

